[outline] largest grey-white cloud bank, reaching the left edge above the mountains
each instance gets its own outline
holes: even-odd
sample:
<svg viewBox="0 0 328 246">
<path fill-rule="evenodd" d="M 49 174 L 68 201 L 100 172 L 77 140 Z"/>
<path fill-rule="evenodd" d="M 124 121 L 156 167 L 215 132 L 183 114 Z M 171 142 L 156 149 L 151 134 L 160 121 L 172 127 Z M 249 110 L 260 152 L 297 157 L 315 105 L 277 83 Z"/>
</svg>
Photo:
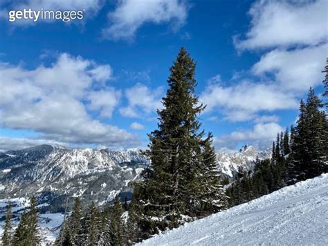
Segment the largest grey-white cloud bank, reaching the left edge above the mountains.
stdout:
<svg viewBox="0 0 328 246">
<path fill-rule="evenodd" d="M 93 91 L 109 79 L 95 69 L 108 65 L 62 53 L 51 66 L 24 69 L 0 64 L 0 126 L 34 130 L 42 139 L 66 143 L 98 143 L 107 146 L 133 146 L 138 139 L 114 125 L 92 118 L 84 100 L 100 116 L 110 117 L 120 92 L 113 88 Z M 108 96 L 107 100 L 105 99 Z"/>
</svg>

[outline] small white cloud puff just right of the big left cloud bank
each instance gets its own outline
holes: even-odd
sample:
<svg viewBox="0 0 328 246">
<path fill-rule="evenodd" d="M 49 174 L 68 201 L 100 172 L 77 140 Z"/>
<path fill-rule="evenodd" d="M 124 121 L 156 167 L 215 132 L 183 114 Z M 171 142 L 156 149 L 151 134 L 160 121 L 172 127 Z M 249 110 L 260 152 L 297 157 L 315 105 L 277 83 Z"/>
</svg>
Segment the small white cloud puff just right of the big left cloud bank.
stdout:
<svg viewBox="0 0 328 246">
<path fill-rule="evenodd" d="M 100 116 L 104 118 L 111 118 L 113 110 L 118 106 L 121 91 L 116 91 L 113 87 L 106 90 L 91 91 L 88 99 L 91 101 L 89 109 L 100 110 Z"/>
</svg>

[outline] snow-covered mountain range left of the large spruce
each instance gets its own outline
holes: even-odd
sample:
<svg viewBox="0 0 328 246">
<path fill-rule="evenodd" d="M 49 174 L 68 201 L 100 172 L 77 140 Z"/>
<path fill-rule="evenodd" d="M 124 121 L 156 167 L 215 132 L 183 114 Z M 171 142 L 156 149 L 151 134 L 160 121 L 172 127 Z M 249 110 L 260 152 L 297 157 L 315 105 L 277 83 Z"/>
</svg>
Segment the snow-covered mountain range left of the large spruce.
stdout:
<svg viewBox="0 0 328 246">
<path fill-rule="evenodd" d="M 0 154 L 0 198 L 37 194 L 41 202 L 60 207 L 69 195 L 103 204 L 131 191 L 129 182 L 138 180 L 147 164 L 138 150 L 50 145 L 11 150 Z"/>
</svg>

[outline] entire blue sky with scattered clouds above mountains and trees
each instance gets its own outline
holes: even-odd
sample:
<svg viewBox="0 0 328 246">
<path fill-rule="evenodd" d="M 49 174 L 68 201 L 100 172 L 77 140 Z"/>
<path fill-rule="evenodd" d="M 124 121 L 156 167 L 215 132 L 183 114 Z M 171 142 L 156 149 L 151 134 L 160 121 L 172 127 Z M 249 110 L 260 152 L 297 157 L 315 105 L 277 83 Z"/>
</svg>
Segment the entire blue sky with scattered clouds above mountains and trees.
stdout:
<svg viewBox="0 0 328 246">
<path fill-rule="evenodd" d="M 0 3 L 0 150 L 41 143 L 147 146 L 181 46 L 197 62 L 200 119 L 215 147 L 267 148 L 322 92 L 327 3 Z M 84 19 L 8 21 L 8 11 L 84 10 Z"/>
</svg>

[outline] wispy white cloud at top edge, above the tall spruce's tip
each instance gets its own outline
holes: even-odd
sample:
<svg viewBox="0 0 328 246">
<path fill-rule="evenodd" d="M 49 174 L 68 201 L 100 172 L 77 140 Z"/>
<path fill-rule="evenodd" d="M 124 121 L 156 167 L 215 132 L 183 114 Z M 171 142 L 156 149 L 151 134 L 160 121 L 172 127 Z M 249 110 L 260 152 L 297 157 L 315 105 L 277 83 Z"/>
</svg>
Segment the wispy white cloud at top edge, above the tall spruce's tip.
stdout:
<svg viewBox="0 0 328 246">
<path fill-rule="evenodd" d="M 116 10 L 109 12 L 110 24 L 102 34 L 108 39 L 131 39 L 145 23 L 169 23 L 179 28 L 187 16 L 188 7 L 181 0 L 120 0 Z"/>
</svg>

